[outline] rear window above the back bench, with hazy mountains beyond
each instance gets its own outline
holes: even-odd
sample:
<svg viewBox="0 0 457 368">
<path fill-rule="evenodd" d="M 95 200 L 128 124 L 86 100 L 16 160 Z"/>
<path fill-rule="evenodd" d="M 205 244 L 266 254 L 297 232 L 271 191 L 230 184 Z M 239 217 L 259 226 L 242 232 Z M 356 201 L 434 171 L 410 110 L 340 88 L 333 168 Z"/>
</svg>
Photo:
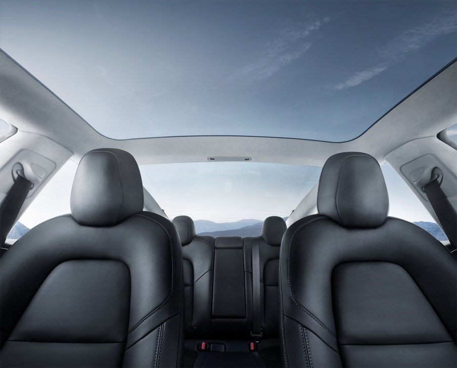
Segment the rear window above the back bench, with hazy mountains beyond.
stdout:
<svg viewBox="0 0 457 368">
<path fill-rule="evenodd" d="M 189 162 L 142 165 L 140 171 L 168 217 L 192 217 L 198 234 L 258 236 L 266 217 L 289 216 L 317 184 L 321 168 Z"/>
</svg>

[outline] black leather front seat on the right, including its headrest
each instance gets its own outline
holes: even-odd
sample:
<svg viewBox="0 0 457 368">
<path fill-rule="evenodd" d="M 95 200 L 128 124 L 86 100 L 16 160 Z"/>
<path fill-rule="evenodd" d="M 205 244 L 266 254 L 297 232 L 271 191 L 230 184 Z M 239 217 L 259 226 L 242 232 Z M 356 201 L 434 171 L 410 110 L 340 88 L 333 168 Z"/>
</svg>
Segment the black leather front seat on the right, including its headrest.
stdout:
<svg viewBox="0 0 457 368">
<path fill-rule="evenodd" d="M 327 160 L 319 214 L 281 243 L 285 366 L 456 365 L 457 261 L 388 207 L 375 159 Z"/>
</svg>

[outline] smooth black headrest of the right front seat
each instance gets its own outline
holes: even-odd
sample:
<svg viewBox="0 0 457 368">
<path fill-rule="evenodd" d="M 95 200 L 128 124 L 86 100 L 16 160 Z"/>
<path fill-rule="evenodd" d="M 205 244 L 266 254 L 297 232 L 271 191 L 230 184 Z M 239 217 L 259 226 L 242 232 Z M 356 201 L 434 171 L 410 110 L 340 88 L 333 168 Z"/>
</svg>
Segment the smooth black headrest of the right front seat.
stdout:
<svg viewBox="0 0 457 368">
<path fill-rule="evenodd" d="M 347 228 L 383 225 L 389 195 L 378 162 L 360 152 L 331 156 L 319 179 L 317 208 L 320 214 Z"/>
</svg>

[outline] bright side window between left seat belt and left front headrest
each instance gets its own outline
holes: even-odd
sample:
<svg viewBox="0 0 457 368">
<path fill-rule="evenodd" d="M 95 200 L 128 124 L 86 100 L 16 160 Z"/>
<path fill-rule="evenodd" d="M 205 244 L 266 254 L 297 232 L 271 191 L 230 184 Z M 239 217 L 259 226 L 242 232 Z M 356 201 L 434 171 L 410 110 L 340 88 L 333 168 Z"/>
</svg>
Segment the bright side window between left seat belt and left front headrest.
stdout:
<svg viewBox="0 0 457 368">
<path fill-rule="evenodd" d="M 70 213 L 70 194 L 78 164 L 67 161 L 25 210 L 8 234 L 8 239 L 19 239 L 28 230 L 42 222 Z"/>
</svg>

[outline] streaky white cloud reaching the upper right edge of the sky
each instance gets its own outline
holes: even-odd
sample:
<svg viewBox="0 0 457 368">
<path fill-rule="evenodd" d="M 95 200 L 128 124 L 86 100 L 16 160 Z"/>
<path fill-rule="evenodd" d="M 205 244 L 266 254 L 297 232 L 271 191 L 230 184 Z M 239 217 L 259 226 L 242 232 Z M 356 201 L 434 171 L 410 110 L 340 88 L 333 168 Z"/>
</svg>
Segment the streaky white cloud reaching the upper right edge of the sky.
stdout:
<svg viewBox="0 0 457 368">
<path fill-rule="evenodd" d="M 408 53 L 424 47 L 437 36 L 449 34 L 455 30 L 457 30 L 455 11 L 442 9 L 427 24 L 409 29 L 379 48 L 376 51 L 378 63 L 374 66 L 353 73 L 345 81 L 332 86 L 332 89 L 339 91 L 358 86 L 404 59 Z"/>
</svg>

